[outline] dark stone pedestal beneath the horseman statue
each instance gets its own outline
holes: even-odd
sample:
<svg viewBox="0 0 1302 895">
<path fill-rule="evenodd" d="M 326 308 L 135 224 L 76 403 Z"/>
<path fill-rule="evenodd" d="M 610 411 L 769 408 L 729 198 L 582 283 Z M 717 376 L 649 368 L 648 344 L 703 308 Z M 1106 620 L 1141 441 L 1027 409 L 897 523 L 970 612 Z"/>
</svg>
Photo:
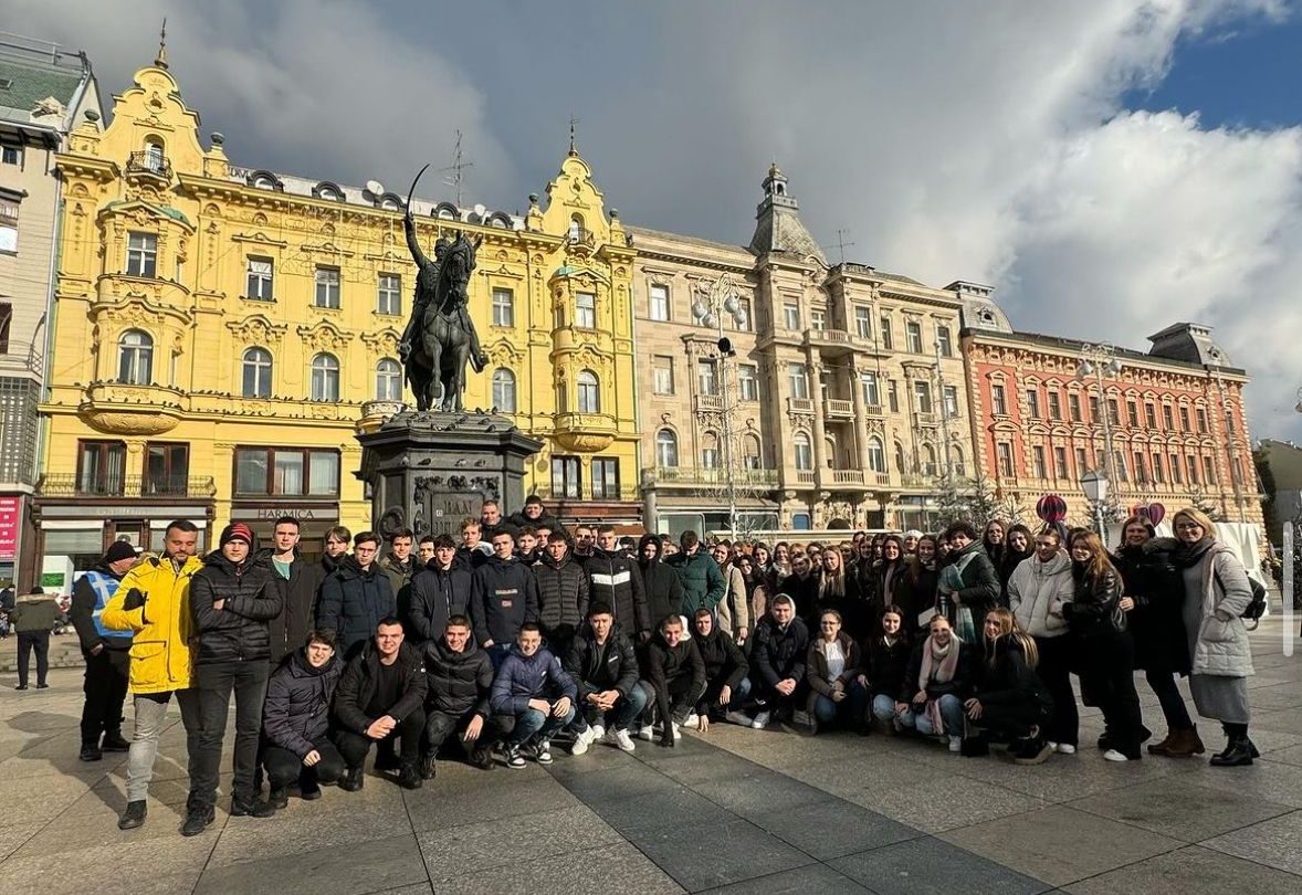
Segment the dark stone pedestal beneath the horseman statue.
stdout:
<svg viewBox="0 0 1302 895">
<path fill-rule="evenodd" d="M 375 531 L 449 533 L 458 542 L 461 520 L 478 519 L 484 498 L 497 500 L 504 516 L 525 505 L 525 463 L 543 449 L 509 419 L 475 412 L 404 410 L 357 440 Z"/>
</svg>

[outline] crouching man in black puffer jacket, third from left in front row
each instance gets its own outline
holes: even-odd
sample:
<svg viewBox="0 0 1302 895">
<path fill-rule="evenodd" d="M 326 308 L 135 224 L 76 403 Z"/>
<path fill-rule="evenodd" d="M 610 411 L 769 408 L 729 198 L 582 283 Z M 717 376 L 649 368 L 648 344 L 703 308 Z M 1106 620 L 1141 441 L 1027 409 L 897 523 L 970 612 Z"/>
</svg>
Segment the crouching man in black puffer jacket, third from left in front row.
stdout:
<svg viewBox="0 0 1302 895">
<path fill-rule="evenodd" d="M 470 635 L 470 619 L 452 615 L 437 640 L 424 645 L 426 752 L 422 779 L 432 779 L 439 749 L 456 735 L 475 768 L 492 768 L 492 744 L 499 731 L 490 723 L 492 660 Z"/>
</svg>

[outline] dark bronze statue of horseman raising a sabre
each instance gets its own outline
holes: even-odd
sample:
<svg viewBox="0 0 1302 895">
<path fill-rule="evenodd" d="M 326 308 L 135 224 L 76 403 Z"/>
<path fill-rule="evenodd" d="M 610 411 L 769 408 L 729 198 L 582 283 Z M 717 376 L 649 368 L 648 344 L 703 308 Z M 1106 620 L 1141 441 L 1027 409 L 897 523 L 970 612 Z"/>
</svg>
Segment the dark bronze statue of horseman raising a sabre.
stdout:
<svg viewBox="0 0 1302 895">
<path fill-rule="evenodd" d="M 415 237 L 415 217 L 411 213 L 411 195 L 428 167 L 422 168 L 411 181 L 406 215 L 402 217 L 408 248 L 419 273 L 415 278 L 411 317 L 402 332 L 398 356 L 402 358 L 406 381 L 415 393 L 417 410 L 460 412 L 466 389 L 466 363 L 477 373 L 483 372 L 488 363 L 466 310 L 475 251 L 483 238 L 470 241 L 465 233 L 457 233 L 456 239 L 440 237 L 435 242 L 432 259 L 421 251 Z"/>
</svg>

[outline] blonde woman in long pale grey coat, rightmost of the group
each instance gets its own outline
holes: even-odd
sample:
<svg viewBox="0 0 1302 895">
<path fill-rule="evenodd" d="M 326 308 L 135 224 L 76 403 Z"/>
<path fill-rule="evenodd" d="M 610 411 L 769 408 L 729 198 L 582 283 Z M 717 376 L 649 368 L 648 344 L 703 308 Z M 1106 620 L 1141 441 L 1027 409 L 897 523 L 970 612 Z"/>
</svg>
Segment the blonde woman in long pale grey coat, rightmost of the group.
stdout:
<svg viewBox="0 0 1302 895">
<path fill-rule="evenodd" d="M 1216 540 L 1216 526 L 1200 510 L 1185 509 L 1172 520 L 1180 541 L 1173 559 L 1185 583 L 1184 619 L 1193 674 L 1189 689 L 1198 714 L 1221 722 L 1225 749 L 1216 768 L 1251 765 L 1258 756 L 1247 736 L 1247 678 L 1253 649 L 1240 614 L 1253 600 L 1243 565 Z"/>
</svg>

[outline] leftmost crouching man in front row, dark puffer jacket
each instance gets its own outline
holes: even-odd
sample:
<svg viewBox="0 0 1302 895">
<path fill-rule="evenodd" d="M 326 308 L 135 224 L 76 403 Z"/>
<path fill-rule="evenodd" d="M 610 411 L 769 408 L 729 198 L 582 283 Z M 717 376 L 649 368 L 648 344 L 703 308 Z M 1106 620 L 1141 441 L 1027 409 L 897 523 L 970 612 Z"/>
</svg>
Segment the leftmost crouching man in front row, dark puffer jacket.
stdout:
<svg viewBox="0 0 1302 895">
<path fill-rule="evenodd" d="M 335 632 L 316 630 L 267 682 L 262 760 L 275 808 L 289 804 L 290 786 L 311 801 L 320 799 L 322 783 L 335 783 L 344 774 L 344 756 L 328 736 L 329 705 L 342 673 Z"/>
</svg>

